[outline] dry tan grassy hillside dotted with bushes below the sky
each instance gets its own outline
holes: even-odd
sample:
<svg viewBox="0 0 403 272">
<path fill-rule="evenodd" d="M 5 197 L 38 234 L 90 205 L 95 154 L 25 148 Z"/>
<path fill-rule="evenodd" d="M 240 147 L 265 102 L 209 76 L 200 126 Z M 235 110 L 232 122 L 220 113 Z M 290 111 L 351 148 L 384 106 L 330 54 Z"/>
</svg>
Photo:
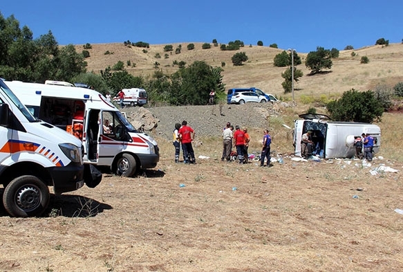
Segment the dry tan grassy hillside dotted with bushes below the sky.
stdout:
<svg viewBox="0 0 403 272">
<path fill-rule="evenodd" d="M 163 48 L 166 44 L 151 45 L 147 53 L 144 48 L 135 46 L 124 46 L 121 44 L 92 44 L 88 62 L 88 71 L 100 73 L 106 66 L 113 66 L 116 62 L 127 61 L 135 64 L 135 67 L 126 67 L 126 70 L 133 75 L 151 75 L 155 69 L 153 64 L 160 63 L 160 69 L 164 73 L 174 73 L 178 66 L 172 66 L 176 60 L 191 64 L 194 61 L 202 60 L 212 66 L 221 66 L 225 62 L 223 80 L 227 88 L 231 87 L 258 87 L 266 93 L 275 96 L 284 96 L 281 87 L 281 73 L 284 67 L 273 66 L 274 56 L 281 53 L 283 49 L 270 48 L 268 46 L 245 46 L 239 51 L 221 51 L 219 46 L 212 46 L 210 49 L 202 49 L 201 43 L 196 43 L 194 50 L 188 51 L 187 44 L 182 44 L 182 53 L 169 52 L 165 59 Z M 171 44 L 175 49 L 179 44 Z M 77 51 L 83 50 L 82 45 L 76 46 Z M 312 50 L 315 50 L 313 48 Z M 110 55 L 104 53 L 109 51 Z M 233 66 L 231 57 L 238 52 L 245 52 L 249 60 L 243 66 Z M 355 52 L 355 57 L 351 53 Z M 159 53 L 161 58 L 156 58 Z M 351 88 L 366 91 L 377 84 L 387 84 L 393 87 L 397 82 L 403 81 L 403 44 L 390 44 L 389 46 L 366 46 L 350 51 L 340 51 L 338 59 L 333 60 L 330 73 L 309 76 L 310 72 L 304 64 L 307 53 L 298 53 L 303 64 L 297 66 L 303 71 L 303 77 L 295 84 L 295 98 L 298 101 L 301 95 L 320 96 L 325 94 L 328 98 L 339 96 L 340 93 Z M 362 56 L 370 60 L 368 64 L 360 64 Z"/>
</svg>

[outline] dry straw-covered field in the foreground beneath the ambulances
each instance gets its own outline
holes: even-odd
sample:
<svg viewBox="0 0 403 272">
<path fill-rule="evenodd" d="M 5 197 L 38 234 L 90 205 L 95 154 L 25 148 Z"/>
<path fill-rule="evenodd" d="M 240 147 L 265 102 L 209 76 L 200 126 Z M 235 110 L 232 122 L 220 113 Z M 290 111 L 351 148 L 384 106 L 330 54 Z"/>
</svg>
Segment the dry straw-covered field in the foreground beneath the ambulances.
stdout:
<svg viewBox="0 0 403 272">
<path fill-rule="evenodd" d="M 169 151 L 135 178 L 53 195 L 44 217 L 1 208 L 0 271 L 403 270 L 402 163 L 259 167 L 216 149 L 185 165 Z"/>
</svg>

